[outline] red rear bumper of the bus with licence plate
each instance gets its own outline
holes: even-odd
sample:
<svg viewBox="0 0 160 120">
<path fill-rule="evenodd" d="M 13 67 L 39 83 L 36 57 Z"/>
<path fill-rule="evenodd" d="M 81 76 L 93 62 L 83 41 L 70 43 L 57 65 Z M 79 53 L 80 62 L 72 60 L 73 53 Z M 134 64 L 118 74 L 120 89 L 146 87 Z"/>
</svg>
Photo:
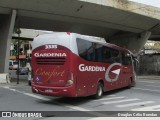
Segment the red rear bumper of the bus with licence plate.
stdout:
<svg viewBox="0 0 160 120">
<path fill-rule="evenodd" d="M 67 87 L 48 87 L 32 84 L 32 92 L 47 96 L 76 97 L 76 89 L 73 85 Z"/>
</svg>

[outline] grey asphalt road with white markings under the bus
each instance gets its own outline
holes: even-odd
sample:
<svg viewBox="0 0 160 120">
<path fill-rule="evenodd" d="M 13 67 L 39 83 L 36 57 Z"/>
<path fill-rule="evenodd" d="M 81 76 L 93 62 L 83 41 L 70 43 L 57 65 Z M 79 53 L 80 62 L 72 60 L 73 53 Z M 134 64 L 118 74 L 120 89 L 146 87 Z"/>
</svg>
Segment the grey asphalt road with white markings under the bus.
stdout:
<svg viewBox="0 0 160 120">
<path fill-rule="evenodd" d="M 60 111 L 48 112 L 45 116 L 77 116 L 78 119 L 82 119 L 80 114 L 102 117 L 106 111 L 113 111 L 111 114 L 107 112 L 110 116 L 117 115 L 117 111 L 160 111 L 160 80 L 138 79 L 136 87 L 106 92 L 98 100 L 92 97 L 63 98 L 33 94 L 27 82 L 0 84 L 0 111 Z"/>
</svg>

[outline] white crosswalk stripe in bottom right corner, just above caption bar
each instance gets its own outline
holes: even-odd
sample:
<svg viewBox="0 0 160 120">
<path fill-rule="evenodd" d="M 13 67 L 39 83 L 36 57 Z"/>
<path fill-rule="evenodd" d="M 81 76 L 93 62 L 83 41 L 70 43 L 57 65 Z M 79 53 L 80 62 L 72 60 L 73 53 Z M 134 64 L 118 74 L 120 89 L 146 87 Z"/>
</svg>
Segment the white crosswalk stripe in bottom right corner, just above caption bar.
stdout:
<svg viewBox="0 0 160 120">
<path fill-rule="evenodd" d="M 160 111 L 160 105 L 132 109 L 132 111 Z"/>
</svg>

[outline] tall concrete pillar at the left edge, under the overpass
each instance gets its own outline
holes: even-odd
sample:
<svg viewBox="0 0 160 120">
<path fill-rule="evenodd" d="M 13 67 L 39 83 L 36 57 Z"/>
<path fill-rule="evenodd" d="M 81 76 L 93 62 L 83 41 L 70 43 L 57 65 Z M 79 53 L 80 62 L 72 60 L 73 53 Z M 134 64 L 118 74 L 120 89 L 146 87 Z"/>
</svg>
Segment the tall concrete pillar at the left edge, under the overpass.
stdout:
<svg viewBox="0 0 160 120">
<path fill-rule="evenodd" d="M 10 15 L 2 15 L 0 20 L 0 73 L 9 72 L 9 57 L 12 34 L 16 19 L 16 10 Z"/>
</svg>

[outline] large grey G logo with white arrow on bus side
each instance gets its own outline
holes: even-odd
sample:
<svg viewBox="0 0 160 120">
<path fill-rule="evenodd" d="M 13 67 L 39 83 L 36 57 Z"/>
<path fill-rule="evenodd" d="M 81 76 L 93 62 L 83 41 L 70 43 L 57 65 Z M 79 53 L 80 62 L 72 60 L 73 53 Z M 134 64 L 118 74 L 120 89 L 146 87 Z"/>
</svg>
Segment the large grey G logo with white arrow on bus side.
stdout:
<svg viewBox="0 0 160 120">
<path fill-rule="evenodd" d="M 119 66 L 117 69 L 115 70 L 112 70 L 113 67 L 115 66 Z M 119 77 L 119 74 L 120 74 L 120 71 L 121 71 L 121 66 L 122 64 L 120 63 L 113 63 L 111 64 L 107 70 L 106 70 L 106 73 L 105 73 L 105 79 L 108 81 L 108 82 L 115 82 L 118 80 L 118 77 Z M 111 74 L 114 74 L 114 78 L 110 78 L 110 75 Z"/>
</svg>

